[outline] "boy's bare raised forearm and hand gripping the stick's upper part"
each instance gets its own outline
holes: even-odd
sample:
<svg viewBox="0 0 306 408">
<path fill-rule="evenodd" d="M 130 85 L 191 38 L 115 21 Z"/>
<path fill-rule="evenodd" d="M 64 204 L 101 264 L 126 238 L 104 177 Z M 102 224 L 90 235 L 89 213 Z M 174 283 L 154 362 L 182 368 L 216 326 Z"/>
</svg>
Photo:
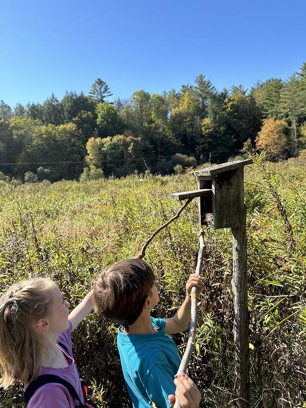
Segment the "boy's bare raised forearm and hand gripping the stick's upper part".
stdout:
<svg viewBox="0 0 306 408">
<path fill-rule="evenodd" d="M 174 333 L 181 333 L 184 331 L 190 323 L 190 310 L 191 310 L 191 298 L 190 293 L 193 286 L 198 288 L 197 298 L 199 297 L 203 284 L 201 281 L 201 276 L 193 273 L 189 276 L 188 282 L 186 284 L 186 298 L 181 306 L 181 308 L 175 313 L 171 318 L 166 319 L 165 331 L 168 335 Z"/>
</svg>

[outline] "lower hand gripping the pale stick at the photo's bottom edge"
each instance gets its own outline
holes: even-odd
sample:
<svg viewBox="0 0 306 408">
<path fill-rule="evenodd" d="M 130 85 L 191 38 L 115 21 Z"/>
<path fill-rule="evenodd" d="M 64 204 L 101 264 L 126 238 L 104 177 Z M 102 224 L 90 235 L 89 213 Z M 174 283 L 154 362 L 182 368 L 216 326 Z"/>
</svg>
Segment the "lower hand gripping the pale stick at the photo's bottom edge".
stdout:
<svg viewBox="0 0 306 408">
<path fill-rule="evenodd" d="M 169 395 L 169 403 L 174 406 L 175 398 L 177 398 L 182 408 L 198 408 L 201 401 L 201 393 L 187 374 L 181 373 L 174 378 L 176 385 L 175 397 Z"/>
</svg>

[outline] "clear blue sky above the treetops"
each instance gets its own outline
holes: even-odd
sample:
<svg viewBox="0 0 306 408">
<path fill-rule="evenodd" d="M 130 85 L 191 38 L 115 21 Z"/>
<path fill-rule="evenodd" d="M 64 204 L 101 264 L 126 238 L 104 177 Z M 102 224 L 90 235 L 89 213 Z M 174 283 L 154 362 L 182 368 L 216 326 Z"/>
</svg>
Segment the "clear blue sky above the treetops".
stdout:
<svg viewBox="0 0 306 408">
<path fill-rule="evenodd" d="M 306 61 L 305 0 L 0 0 L 0 99 L 162 92 L 203 73 L 221 90 Z"/>
</svg>

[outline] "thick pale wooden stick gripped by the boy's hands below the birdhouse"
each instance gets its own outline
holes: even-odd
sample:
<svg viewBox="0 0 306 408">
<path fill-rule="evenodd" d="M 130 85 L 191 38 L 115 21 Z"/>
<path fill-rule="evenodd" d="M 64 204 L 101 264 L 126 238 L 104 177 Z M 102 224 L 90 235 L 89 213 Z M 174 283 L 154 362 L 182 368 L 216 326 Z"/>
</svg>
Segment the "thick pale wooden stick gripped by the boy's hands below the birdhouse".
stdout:
<svg viewBox="0 0 306 408">
<path fill-rule="evenodd" d="M 198 252 L 198 259 L 197 259 L 197 264 L 196 264 L 196 269 L 195 273 L 198 273 L 201 275 L 202 273 L 202 266 L 203 266 L 203 256 L 204 256 L 204 249 L 205 249 L 205 244 L 204 244 L 204 232 L 203 228 L 200 230 L 200 236 L 199 236 L 199 252 Z M 190 320 L 190 326 L 189 326 L 189 335 L 188 335 L 188 341 L 187 341 L 187 346 L 185 353 L 183 355 L 179 371 L 177 371 L 177 374 L 180 373 L 186 373 L 187 367 L 191 358 L 191 354 L 193 351 L 193 346 L 194 346 L 194 340 L 195 340 L 195 331 L 196 331 L 196 321 L 197 321 L 197 314 L 198 314 L 198 307 L 197 307 L 197 299 L 196 299 L 196 294 L 197 294 L 197 287 L 194 286 L 191 289 L 190 297 L 191 297 L 191 320 Z M 174 407 L 173 408 L 181 408 L 181 404 L 178 400 L 175 401 Z"/>
</svg>

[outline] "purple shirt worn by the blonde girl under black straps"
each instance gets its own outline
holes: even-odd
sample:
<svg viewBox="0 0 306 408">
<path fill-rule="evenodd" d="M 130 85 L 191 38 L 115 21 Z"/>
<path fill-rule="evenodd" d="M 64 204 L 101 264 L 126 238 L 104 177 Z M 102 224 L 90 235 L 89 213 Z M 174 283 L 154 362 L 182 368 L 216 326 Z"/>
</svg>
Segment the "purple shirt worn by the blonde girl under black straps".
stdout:
<svg viewBox="0 0 306 408">
<path fill-rule="evenodd" d="M 65 355 L 69 366 L 64 368 L 41 367 L 39 375 L 54 374 L 62 377 L 66 381 L 69 381 L 70 384 L 74 387 L 75 391 L 77 391 L 80 400 L 84 403 L 85 401 L 83 397 L 79 373 L 72 358 L 73 354 L 71 348 L 71 331 L 72 324 L 71 322 L 69 322 L 69 328 L 64 331 L 64 333 L 62 333 L 58 338 L 59 342 L 63 343 L 69 350 L 70 355 L 68 355 L 66 351 L 58 345 L 58 348 Z M 26 389 L 27 386 L 28 384 L 24 386 L 24 389 Z M 62 386 L 61 384 L 50 383 L 40 387 L 33 394 L 27 405 L 27 408 L 74 408 L 75 406 L 79 405 L 79 402 L 72 398 L 72 396 L 64 386 Z"/>
</svg>

